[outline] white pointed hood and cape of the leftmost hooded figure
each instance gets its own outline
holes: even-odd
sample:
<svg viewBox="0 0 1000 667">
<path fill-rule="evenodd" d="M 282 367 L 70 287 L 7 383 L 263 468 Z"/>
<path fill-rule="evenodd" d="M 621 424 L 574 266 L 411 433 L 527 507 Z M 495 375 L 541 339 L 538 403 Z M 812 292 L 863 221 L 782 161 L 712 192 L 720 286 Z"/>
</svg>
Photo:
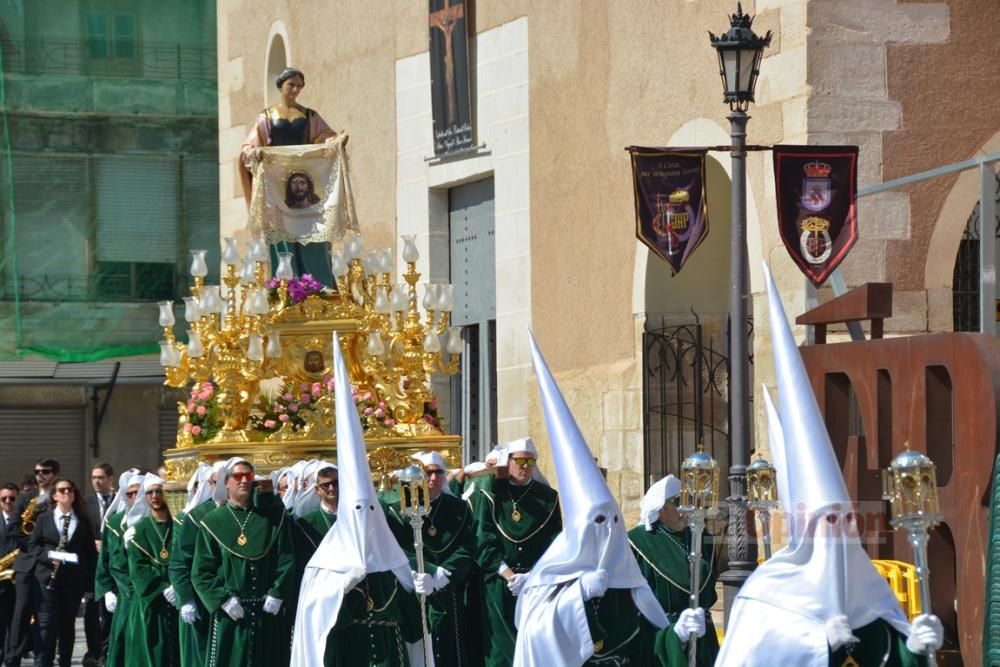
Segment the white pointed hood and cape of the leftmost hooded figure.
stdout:
<svg viewBox="0 0 1000 667">
<path fill-rule="evenodd" d="M 389 530 L 372 484 L 361 420 L 351 400 L 351 381 L 336 333 L 333 364 L 340 480 L 337 522 L 327 531 L 302 577 L 292 635 L 293 667 L 323 664 L 326 636 L 337 622 L 348 586 L 358 577 L 392 572 L 406 591 L 413 590 L 410 562 Z"/>
</svg>

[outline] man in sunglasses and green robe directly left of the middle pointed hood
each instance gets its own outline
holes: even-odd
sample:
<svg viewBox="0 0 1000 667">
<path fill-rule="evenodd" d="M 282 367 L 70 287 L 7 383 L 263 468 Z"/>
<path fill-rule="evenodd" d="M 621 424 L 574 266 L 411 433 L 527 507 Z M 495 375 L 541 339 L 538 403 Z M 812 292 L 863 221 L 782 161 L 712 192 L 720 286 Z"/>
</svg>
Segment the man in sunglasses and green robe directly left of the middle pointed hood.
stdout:
<svg viewBox="0 0 1000 667">
<path fill-rule="evenodd" d="M 506 456 L 506 460 L 504 460 Z M 514 660 L 516 596 L 528 573 L 562 532 L 559 494 L 538 472 L 531 438 L 507 443 L 497 460 L 496 478 L 487 477 L 472 502 L 476 560 L 483 573 L 483 648 L 487 667 Z"/>
</svg>

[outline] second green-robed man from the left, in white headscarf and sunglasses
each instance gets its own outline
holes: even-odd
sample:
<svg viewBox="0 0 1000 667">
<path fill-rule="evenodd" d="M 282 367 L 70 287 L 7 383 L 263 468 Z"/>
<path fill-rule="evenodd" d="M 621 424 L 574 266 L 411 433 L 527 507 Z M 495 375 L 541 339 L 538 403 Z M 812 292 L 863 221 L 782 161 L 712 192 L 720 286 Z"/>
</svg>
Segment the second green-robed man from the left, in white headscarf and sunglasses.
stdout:
<svg viewBox="0 0 1000 667">
<path fill-rule="evenodd" d="M 146 475 L 135 505 L 129 510 L 135 534 L 128 546 L 133 600 L 129 612 L 128 664 L 134 667 L 178 667 L 177 593 L 170 584 L 171 538 L 174 521 L 163 499 L 165 481 Z"/>
</svg>

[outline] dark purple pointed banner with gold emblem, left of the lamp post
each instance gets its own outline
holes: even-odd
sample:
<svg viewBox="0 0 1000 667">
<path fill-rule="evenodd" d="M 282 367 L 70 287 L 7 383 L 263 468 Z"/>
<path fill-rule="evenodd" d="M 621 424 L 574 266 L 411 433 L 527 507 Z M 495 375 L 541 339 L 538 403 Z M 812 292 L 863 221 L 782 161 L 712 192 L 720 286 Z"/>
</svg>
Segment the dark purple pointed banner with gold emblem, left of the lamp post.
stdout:
<svg viewBox="0 0 1000 667">
<path fill-rule="evenodd" d="M 684 268 L 708 235 L 704 150 L 630 146 L 635 235 L 670 265 Z"/>
</svg>

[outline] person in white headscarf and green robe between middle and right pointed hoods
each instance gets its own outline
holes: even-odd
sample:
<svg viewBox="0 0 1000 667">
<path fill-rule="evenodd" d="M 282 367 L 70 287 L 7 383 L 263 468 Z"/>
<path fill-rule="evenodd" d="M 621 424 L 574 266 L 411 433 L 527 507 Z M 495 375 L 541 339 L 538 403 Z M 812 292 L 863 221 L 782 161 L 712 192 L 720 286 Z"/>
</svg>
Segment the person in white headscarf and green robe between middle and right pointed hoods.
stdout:
<svg viewBox="0 0 1000 667">
<path fill-rule="evenodd" d="M 699 607 L 690 609 L 691 566 L 688 560 L 691 530 L 677 509 L 681 482 L 667 475 L 651 487 L 639 503 L 640 523 L 629 531 L 628 541 L 639 561 L 639 570 L 667 612 L 670 626 L 648 637 L 652 664 L 684 667 L 687 643 L 698 637 L 700 667 L 711 667 L 719 653 L 712 618 L 705 609 L 715 604 L 715 548 L 711 535 L 703 539 Z"/>
</svg>

